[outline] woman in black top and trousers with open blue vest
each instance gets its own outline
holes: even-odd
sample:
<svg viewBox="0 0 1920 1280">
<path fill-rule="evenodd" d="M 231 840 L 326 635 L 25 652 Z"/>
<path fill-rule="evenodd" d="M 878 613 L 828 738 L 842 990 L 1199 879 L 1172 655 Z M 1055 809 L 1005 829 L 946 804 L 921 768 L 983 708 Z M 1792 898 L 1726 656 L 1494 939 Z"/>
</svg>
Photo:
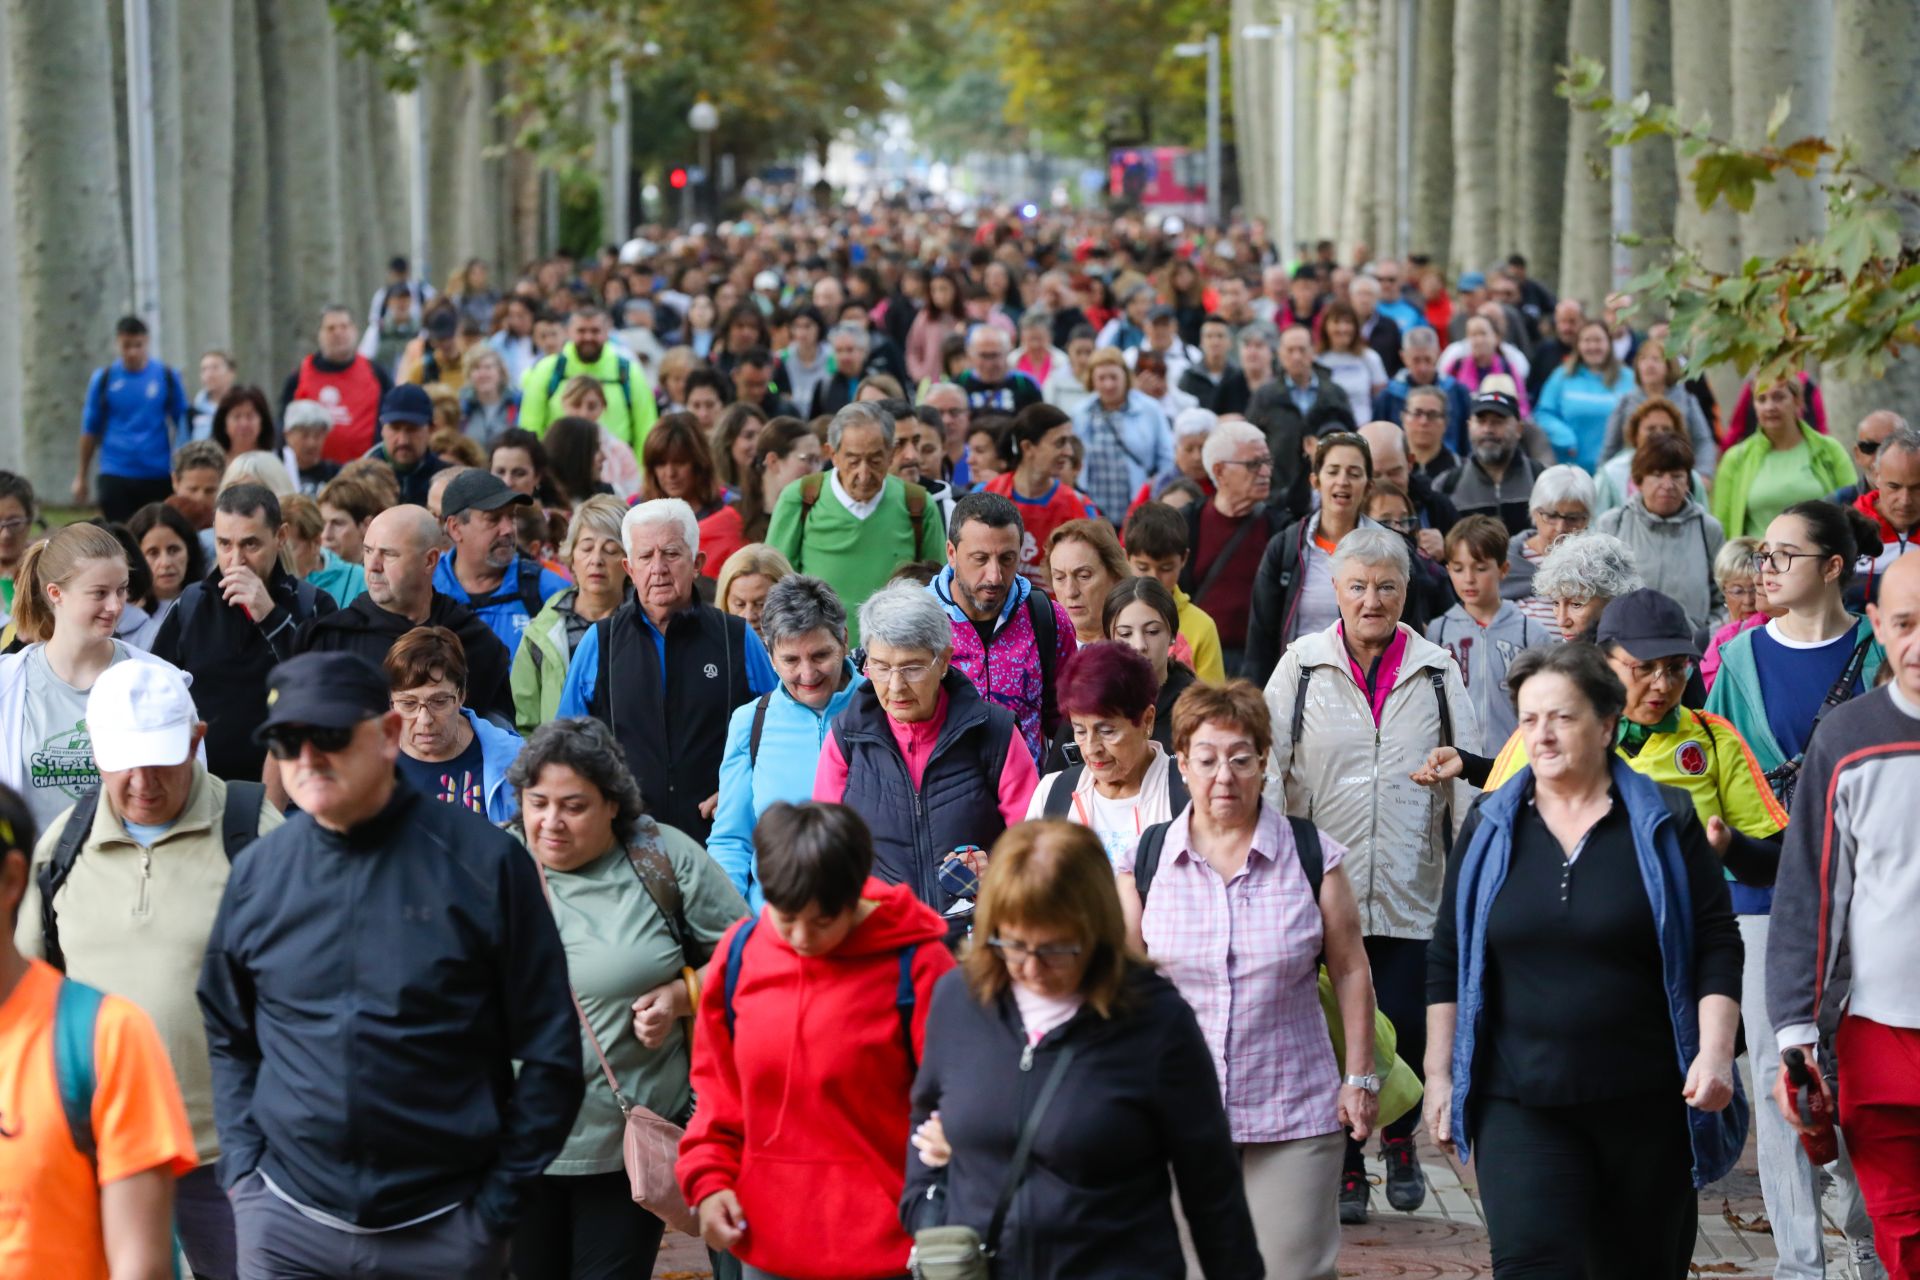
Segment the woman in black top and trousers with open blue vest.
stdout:
<svg viewBox="0 0 1920 1280">
<path fill-rule="evenodd" d="M 1475 1159 L 1496 1276 L 1684 1280 L 1695 1188 L 1747 1138 L 1726 881 L 1692 798 L 1615 758 L 1599 649 L 1528 649 L 1507 683 L 1532 766 L 1446 864 L 1427 1128 Z"/>
</svg>

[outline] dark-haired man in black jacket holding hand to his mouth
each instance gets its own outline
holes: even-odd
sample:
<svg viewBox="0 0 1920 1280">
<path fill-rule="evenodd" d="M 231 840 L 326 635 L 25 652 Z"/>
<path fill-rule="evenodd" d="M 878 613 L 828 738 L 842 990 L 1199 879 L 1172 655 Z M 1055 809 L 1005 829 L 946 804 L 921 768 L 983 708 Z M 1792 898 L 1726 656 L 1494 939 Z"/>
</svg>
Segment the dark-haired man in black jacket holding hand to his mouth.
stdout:
<svg viewBox="0 0 1920 1280">
<path fill-rule="evenodd" d="M 225 489 L 213 503 L 213 572 L 188 583 L 154 637 L 154 656 L 194 677 L 207 771 L 227 781 L 259 781 L 265 750 L 253 725 L 267 714 L 267 674 L 294 656 L 301 624 L 338 608 L 280 568 L 284 537 L 271 489 Z"/>
</svg>

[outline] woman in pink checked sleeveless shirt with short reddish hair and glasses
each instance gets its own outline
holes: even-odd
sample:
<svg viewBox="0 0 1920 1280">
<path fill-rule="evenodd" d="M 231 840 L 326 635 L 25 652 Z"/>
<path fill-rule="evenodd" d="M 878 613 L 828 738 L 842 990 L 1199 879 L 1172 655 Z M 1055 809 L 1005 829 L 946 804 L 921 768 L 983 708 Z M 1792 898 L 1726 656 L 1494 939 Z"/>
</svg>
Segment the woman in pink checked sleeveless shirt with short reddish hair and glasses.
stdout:
<svg viewBox="0 0 1920 1280">
<path fill-rule="evenodd" d="M 1379 1115 L 1373 981 L 1346 846 L 1261 794 L 1271 723 L 1246 681 L 1181 697 L 1173 743 L 1192 802 L 1121 860 L 1119 900 L 1131 940 L 1200 1021 L 1267 1274 L 1331 1280 L 1340 1165 Z M 1346 1061 L 1327 1038 L 1323 960 Z M 1204 1244 L 1190 1213 L 1188 1226 Z"/>
</svg>

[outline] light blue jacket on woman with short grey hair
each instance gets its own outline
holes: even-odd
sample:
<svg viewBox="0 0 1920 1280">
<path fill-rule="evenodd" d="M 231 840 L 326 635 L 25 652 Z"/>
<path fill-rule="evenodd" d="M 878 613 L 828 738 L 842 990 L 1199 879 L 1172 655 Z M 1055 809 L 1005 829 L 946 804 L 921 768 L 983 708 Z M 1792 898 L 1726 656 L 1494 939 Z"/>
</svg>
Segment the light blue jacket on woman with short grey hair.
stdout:
<svg viewBox="0 0 1920 1280">
<path fill-rule="evenodd" d="M 828 741 L 833 718 L 847 708 L 847 700 L 864 679 L 849 658 L 847 683 L 818 712 L 799 702 L 785 685 L 760 695 L 766 699 L 766 723 L 760 725 L 758 764 L 751 758 L 751 747 L 753 716 L 760 699 L 735 706 L 728 720 L 726 752 L 720 756 L 720 806 L 714 810 L 707 852 L 733 881 L 733 889 L 747 898 L 755 915 L 766 906 L 766 896 L 753 865 L 753 827 L 776 800 L 789 804 L 812 800 L 820 747 Z"/>
</svg>

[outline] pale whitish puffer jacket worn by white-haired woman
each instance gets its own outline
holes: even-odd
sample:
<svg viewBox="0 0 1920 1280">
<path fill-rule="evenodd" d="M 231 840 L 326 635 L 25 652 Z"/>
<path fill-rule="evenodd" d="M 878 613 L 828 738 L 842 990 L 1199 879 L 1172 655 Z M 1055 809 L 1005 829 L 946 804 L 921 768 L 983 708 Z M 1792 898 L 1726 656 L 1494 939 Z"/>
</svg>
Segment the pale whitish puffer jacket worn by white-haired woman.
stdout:
<svg viewBox="0 0 1920 1280">
<path fill-rule="evenodd" d="M 1273 770 L 1267 800 L 1311 818 L 1348 848 L 1346 877 L 1369 936 L 1430 938 L 1440 912 L 1446 852 L 1475 791 L 1421 787 L 1407 775 L 1442 745 L 1438 674 L 1453 720 L 1452 745 L 1480 750 L 1480 723 L 1446 649 L 1405 624 L 1405 656 L 1375 727 L 1367 695 L 1354 679 L 1338 624 L 1302 635 L 1267 681 L 1273 714 Z M 1294 741 L 1300 676 L 1311 676 Z M 1448 818 L 1452 802 L 1452 819 Z"/>
</svg>

